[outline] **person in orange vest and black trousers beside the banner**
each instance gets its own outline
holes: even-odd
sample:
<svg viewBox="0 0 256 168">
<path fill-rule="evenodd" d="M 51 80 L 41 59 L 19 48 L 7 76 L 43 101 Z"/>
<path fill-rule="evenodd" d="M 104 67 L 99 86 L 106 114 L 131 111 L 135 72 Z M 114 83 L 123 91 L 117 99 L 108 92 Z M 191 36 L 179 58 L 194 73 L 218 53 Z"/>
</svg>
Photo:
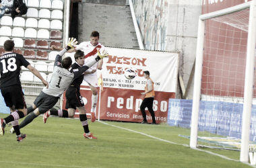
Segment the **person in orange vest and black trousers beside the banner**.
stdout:
<svg viewBox="0 0 256 168">
<path fill-rule="evenodd" d="M 143 116 L 143 121 L 141 122 L 141 124 L 148 124 L 145 108 L 148 108 L 148 110 L 150 111 L 150 114 L 152 116 L 151 124 L 156 124 L 155 112 L 153 110 L 153 101 L 154 101 L 154 97 L 155 97 L 154 82 L 150 78 L 149 71 L 144 71 L 143 77 L 145 79 L 148 79 L 148 81 L 146 83 L 145 92 L 141 93 L 141 95 L 145 95 L 145 98 L 143 99 L 141 106 L 140 106 L 140 111 Z"/>
</svg>

